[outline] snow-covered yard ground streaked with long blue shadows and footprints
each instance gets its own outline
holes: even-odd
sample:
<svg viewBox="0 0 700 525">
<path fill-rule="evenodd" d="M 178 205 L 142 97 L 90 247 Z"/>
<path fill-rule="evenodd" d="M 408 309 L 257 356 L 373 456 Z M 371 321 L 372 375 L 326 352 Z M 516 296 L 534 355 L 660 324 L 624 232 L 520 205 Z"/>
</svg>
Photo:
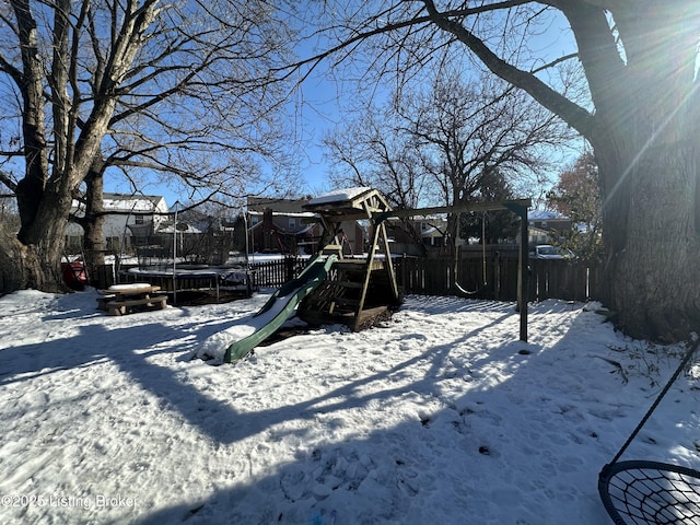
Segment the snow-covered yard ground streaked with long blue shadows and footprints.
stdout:
<svg viewBox="0 0 700 525">
<path fill-rule="evenodd" d="M 682 353 L 595 305 L 533 305 L 525 343 L 512 304 L 409 296 L 213 366 L 191 358 L 269 293 L 96 296 L 0 298 L 0 523 L 609 524 L 598 471 Z M 697 363 L 622 459 L 700 468 Z"/>
</svg>

